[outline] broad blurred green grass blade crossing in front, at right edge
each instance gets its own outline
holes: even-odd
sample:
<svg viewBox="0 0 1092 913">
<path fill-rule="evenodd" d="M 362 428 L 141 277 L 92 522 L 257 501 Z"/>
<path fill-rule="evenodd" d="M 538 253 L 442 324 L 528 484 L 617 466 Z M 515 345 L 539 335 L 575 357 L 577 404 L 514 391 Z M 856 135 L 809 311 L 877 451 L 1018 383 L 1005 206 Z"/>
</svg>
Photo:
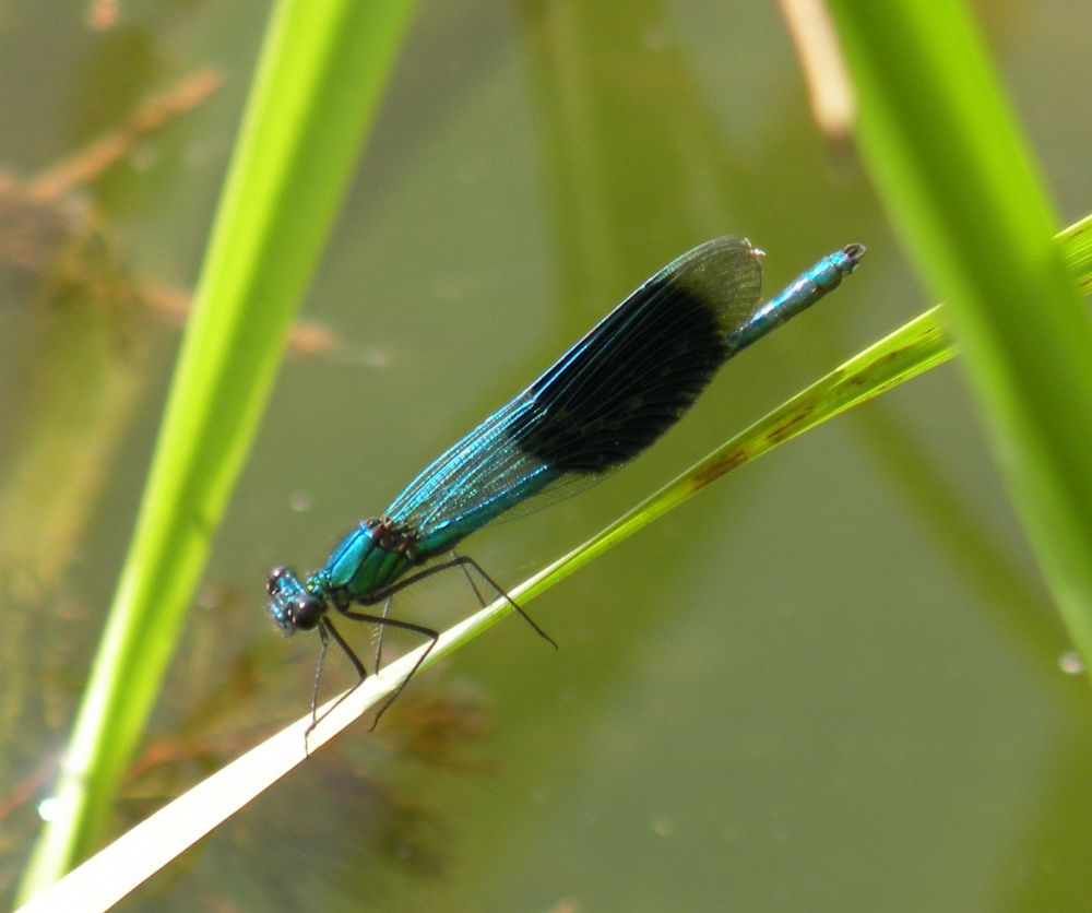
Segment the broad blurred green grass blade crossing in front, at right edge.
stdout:
<svg viewBox="0 0 1092 913">
<path fill-rule="evenodd" d="M 947 303 L 1009 494 L 1092 671 L 1092 321 L 1034 162 L 963 3 L 831 8 L 865 161 Z"/>
</svg>

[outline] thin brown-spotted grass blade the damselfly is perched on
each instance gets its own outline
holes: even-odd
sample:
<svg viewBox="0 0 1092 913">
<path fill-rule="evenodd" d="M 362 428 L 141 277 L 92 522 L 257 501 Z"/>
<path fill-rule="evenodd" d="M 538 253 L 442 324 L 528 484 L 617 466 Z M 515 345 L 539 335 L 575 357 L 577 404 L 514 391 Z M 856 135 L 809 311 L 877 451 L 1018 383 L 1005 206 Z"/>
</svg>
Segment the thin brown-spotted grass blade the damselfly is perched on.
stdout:
<svg viewBox="0 0 1092 913">
<path fill-rule="evenodd" d="M 1079 283 L 1092 284 L 1092 216 L 1063 234 L 1066 257 Z M 736 435 L 625 517 L 521 583 L 510 595 L 521 605 L 559 583 L 596 555 L 744 463 L 804 431 L 878 396 L 956 354 L 945 334 L 941 307 L 931 308 L 891 333 L 781 407 Z M 512 612 L 498 598 L 440 635 L 419 671 L 459 649 Z M 320 722 L 305 734 L 310 714 L 248 751 L 141 822 L 68 877 L 44 891 L 21 913 L 69 909 L 76 901 L 108 906 L 143 884 L 198 840 L 260 795 L 399 687 L 417 667 L 425 647 L 391 663 L 363 685 L 320 709 Z M 329 711 L 329 712 L 328 712 Z M 93 899 L 93 902 L 88 899 Z"/>
</svg>

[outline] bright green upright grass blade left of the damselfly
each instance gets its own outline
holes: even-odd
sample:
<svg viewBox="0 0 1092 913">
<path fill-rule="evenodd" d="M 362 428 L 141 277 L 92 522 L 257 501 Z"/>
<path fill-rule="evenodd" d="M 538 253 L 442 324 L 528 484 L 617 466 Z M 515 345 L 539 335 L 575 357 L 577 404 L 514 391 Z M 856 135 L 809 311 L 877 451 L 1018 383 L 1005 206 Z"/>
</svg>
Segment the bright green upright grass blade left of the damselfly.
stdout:
<svg viewBox="0 0 1092 913">
<path fill-rule="evenodd" d="M 282 0 L 224 190 L 136 531 L 21 886 L 85 853 L 158 693 L 212 533 L 378 107 L 411 0 Z"/>
</svg>

